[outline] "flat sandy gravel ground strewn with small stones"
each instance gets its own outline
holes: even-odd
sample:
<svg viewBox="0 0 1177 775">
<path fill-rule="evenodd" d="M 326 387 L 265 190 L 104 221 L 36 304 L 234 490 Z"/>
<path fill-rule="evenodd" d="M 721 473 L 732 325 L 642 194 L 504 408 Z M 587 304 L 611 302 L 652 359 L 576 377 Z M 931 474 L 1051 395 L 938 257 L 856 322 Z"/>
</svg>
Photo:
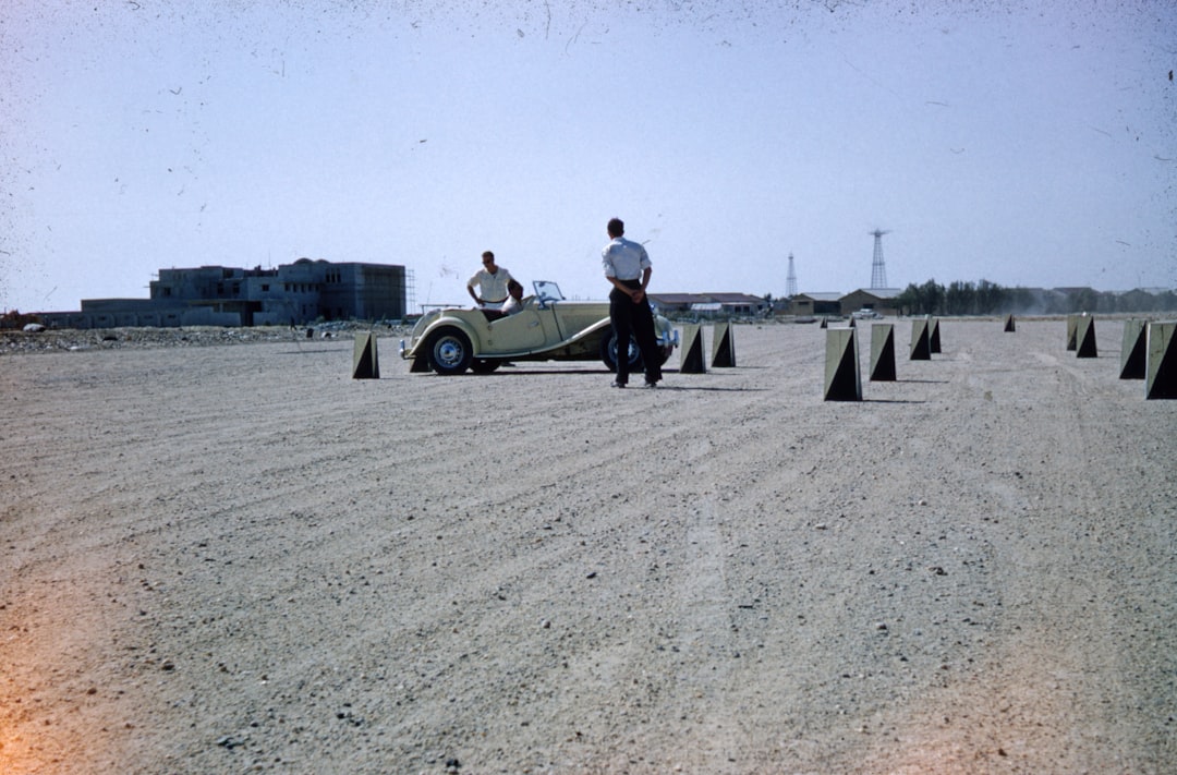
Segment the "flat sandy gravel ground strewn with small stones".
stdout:
<svg viewBox="0 0 1177 775">
<path fill-rule="evenodd" d="M 0 770 L 1177 771 L 1177 402 L 1117 322 L 859 331 L 851 403 L 816 325 L 0 357 Z"/>
</svg>

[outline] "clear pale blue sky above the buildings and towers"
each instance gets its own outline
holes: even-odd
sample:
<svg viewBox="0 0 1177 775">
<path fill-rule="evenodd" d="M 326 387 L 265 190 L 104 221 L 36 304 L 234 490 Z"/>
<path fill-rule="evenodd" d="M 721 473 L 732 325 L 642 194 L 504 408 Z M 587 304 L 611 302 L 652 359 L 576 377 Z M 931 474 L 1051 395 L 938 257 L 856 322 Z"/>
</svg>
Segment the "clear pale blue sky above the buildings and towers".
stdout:
<svg viewBox="0 0 1177 775">
<path fill-rule="evenodd" d="M 1177 286 L 1177 4 L 74 2 L 0 11 L 0 309 L 159 267 L 483 250 L 603 298 Z M 210 9 L 206 6 L 215 6 Z M 742 7 L 743 6 L 743 7 Z"/>
</svg>

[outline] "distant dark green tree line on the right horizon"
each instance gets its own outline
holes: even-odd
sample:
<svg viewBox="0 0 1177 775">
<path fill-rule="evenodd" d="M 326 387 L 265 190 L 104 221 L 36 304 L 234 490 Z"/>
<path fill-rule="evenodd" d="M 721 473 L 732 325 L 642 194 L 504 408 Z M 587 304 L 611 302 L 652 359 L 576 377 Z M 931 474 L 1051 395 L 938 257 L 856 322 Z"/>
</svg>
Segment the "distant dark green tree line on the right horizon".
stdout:
<svg viewBox="0 0 1177 775">
<path fill-rule="evenodd" d="M 1177 311 L 1177 292 L 1128 291 L 1109 293 L 1093 289 L 1043 291 L 1003 287 L 997 283 L 953 281 L 946 287 L 935 279 L 912 283 L 896 297 L 906 314 L 1072 314 L 1076 312 L 1171 312 Z"/>
</svg>

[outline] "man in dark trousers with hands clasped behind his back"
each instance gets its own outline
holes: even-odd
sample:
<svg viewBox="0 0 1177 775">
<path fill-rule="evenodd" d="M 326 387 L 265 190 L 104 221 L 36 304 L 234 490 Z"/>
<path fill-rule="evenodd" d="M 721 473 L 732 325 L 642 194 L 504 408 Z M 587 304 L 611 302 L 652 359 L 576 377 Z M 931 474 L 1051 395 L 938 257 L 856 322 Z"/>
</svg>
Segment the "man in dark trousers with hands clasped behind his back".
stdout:
<svg viewBox="0 0 1177 775">
<path fill-rule="evenodd" d="M 654 334 L 654 314 L 646 300 L 650 285 L 650 256 L 646 249 L 625 239 L 625 224 L 613 218 L 606 226 L 612 241 L 601 251 L 605 279 L 613 285 L 609 293 L 609 319 L 617 342 L 617 379 L 614 388 L 630 382 L 630 334 L 638 340 L 641 360 L 646 367 L 646 388 L 657 388 L 661 379 L 661 353 Z"/>
</svg>

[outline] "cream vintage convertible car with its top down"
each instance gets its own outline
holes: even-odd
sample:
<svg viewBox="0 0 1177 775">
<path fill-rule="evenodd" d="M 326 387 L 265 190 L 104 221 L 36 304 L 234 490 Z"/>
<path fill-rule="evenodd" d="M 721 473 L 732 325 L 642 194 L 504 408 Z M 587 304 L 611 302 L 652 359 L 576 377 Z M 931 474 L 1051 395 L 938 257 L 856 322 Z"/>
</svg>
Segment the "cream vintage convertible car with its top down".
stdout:
<svg viewBox="0 0 1177 775">
<path fill-rule="evenodd" d="M 617 342 L 609 323 L 607 302 L 565 302 L 556 283 L 536 280 L 534 296 L 523 299 L 523 310 L 496 317 L 484 310 L 432 310 L 423 316 L 408 342 L 400 342 L 400 357 L 412 360 L 412 371 L 460 375 L 467 369 L 490 373 L 504 362 L 596 360 L 617 370 Z M 663 363 L 678 345 L 670 320 L 654 316 Z M 630 367 L 641 371 L 641 353 L 631 339 Z"/>
</svg>

